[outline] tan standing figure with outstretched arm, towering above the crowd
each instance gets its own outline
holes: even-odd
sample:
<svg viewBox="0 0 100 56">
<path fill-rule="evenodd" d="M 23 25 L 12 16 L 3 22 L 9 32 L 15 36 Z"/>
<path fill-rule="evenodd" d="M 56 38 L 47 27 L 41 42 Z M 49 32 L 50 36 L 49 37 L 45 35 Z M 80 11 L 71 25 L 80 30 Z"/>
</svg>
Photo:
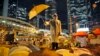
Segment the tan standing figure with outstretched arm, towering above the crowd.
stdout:
<svg viewBox="0 0 100 56">
<path fill-rule="evenodd" d="M 58 19 L 56 13 L 52 15 L 52 18 L 47 24 L 50 25 L 50 31 L 52 36 L 52 49 L 58 49 L 58 37 L 61 35 L 61 21 Z"/>
</svg>

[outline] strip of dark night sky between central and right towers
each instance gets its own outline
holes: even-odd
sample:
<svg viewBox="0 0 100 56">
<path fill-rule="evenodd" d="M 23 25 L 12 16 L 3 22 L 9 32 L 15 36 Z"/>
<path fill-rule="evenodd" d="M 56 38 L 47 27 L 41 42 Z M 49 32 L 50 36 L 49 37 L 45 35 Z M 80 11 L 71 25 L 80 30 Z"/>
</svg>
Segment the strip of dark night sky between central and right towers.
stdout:
<svg viewBox="0 0 100 56">
<path fill-rule="evenodd" d="M 62 22 L 62 28 L 67 29 L 67 0 L 56 0 L 56 10 Z"/>
</svg>

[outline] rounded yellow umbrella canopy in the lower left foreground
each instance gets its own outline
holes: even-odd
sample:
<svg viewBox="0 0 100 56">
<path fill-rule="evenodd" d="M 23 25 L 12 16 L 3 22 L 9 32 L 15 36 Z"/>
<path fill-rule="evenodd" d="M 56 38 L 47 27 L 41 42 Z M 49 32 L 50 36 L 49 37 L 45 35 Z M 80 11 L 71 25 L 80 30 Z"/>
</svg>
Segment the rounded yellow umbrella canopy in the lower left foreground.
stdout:
<svg viewBox="0 0 100 56">
<path fill-rule="evenodd" d="M 31 52 L 31 49 L 26 46 L 18 46 L 10 49 L 9 56 L 28 56 Z"/>
</svg>

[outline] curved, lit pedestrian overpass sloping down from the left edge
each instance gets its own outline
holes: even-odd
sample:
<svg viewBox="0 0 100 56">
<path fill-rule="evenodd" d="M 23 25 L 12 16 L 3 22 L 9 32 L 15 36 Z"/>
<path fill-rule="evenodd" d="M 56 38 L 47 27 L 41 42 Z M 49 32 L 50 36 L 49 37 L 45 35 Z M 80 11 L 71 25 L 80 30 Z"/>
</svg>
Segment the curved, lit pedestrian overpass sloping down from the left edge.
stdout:
<svg viewBox="0 0 100 56">
<path fill-rule="evenodd" d="M 18 20 L 16 18 L 0 16 L 0 29 L 24 31 L 28 33 L 34 33 L 35 27 L 30 23 Z"/>
</svg>

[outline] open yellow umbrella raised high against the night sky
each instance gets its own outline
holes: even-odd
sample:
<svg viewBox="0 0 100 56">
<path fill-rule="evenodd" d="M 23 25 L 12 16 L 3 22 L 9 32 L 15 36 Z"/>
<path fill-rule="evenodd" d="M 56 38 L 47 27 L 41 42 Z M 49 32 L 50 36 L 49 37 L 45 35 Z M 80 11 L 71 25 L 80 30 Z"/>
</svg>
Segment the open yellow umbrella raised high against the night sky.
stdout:
<svg viewBox="0 0 100 56">
<path fill-rule="evenodd" d="M 47 9 L 48 7 L 49 6 L 45 4 L 40 4 L 40 5 L 33 7 L 28 14 L 29 19 L 32 19 L 33 17 L 35 17 L 36 15 L 38 15 L 40 12 Z"/>
</svg>

